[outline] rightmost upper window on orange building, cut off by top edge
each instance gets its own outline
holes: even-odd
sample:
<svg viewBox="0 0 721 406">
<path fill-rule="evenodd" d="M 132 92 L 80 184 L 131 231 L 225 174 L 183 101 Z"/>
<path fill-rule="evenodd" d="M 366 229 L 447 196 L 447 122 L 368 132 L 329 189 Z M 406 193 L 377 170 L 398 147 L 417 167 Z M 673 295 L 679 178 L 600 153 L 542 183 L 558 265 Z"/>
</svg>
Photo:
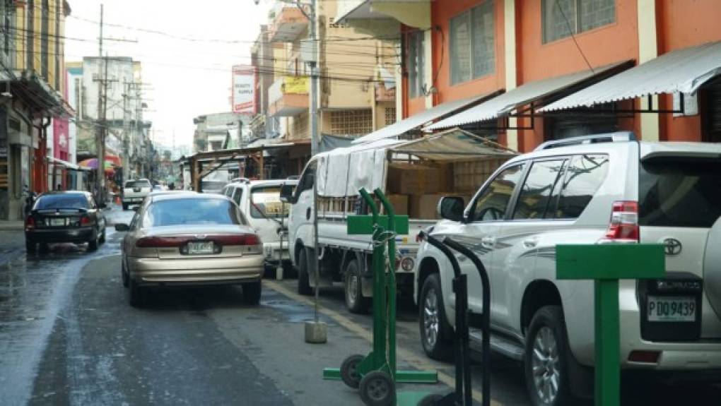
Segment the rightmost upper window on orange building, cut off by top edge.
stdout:
<svg viewBox="0 0 721 406">
<path fill-rule="evenodd" d="M 543 0 L 544 42 L 593 30 L 615 20 L 615 0 Z"/>
</svg>

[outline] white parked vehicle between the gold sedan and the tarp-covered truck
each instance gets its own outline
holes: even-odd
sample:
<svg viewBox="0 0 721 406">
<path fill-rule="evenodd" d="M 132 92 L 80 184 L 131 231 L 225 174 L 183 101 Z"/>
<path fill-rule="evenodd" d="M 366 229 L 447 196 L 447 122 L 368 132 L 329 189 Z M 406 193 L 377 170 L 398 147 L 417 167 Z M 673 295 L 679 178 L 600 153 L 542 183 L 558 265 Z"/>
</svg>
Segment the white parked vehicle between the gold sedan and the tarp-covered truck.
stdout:
<svg viewBox="0 0 721 406">
<path fill-rule="evenodd" d="M 275 274 L 275 267 L 281 255 L 284 268 L 291 269 L 292 266 L 291 258 L 288 256 L 288 210 L 291 205 L 280 202 L 280 186 L 283 184 L 295 186 L 298 181 L 234 179 L 221 191 L 221 194 L 230 197 L 238 204 L 249 225 L 260 235 L 265 266 L 269 274 Z M 283 233 L 282 249 L 280 233 Z"/>
</svg>

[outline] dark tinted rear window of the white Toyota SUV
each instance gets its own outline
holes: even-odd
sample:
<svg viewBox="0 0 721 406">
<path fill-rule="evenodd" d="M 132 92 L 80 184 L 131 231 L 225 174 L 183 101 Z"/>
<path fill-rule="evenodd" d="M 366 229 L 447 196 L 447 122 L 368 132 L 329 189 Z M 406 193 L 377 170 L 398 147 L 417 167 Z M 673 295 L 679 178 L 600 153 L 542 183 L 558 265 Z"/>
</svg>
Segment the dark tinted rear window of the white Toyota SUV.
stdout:
<svg viewBox="0 0 721 406">
<path fill-rule="evenodd" d="M 642 162 L 639 205 L 640 225 L 711 227 L 721 216 L 721 159 Z"/>
</svg>

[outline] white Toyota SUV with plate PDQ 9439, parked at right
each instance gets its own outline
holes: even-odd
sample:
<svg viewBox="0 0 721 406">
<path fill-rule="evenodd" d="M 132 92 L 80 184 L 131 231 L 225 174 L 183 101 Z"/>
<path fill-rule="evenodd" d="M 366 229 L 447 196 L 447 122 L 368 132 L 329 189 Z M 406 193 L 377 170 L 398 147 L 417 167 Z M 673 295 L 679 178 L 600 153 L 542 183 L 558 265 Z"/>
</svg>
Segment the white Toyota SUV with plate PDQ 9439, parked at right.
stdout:
<svg viewBox="0 0 721 406">
<path fill-rule="evenodd" d="M 439 202 L 446 220 L 430 235 L 485 264 L 491 348 L 523 361 L 534 405 L 568 404 L 593 381 L 593 282 L 556 279 L 559 243 L 663 243 L 664 279 L 619 283 L 622 369 L 721 381 L 721 145 L 627 132 L 544 143 L 500 167 L 465 209 L 454 199 Z M 480 314 L 481 280 L 463 259 Z M 455 325 L 451 264 L 428 243 L 416 264 L 423 348 L 443 358 Z M 478 330 L 471 338 L 479 346 Z"/>
</svg>

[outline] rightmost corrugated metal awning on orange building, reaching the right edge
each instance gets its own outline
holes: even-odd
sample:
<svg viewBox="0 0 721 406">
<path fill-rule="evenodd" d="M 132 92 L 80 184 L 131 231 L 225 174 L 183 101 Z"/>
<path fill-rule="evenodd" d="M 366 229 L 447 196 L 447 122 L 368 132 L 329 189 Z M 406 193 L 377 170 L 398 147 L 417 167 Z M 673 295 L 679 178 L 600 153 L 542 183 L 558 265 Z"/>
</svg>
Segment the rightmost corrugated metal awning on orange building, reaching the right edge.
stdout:
<svg viewBox="0 0 721 406">
<path fill-rule="evenodd" d="M 652 94 L 693 94 L 721 75 L 721 41 L 665 53 L 539 109 L 552 112 Z"/>
</svg>

